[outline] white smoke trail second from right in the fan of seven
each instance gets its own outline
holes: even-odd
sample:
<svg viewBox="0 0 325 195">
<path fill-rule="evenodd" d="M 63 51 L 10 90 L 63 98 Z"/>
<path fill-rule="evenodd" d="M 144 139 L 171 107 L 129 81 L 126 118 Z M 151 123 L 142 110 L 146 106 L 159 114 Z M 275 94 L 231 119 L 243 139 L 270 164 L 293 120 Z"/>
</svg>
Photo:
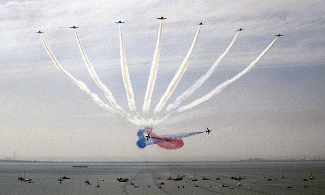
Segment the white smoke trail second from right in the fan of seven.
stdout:
<svg viewBox="0 0 325 195">
<path fill-rule="evenodd" d="M 168 112 L 170 112 L 171 110 L 177 108 L 184 100 L 186 100 L 194 91 L 196 91 L 197 89 L 199 89 L 204 82 L 207 81 L 207 79 L 209 79 L 209 77 L 211 76 L 211 74 L 214 72 L 214 70 L 216 69 L 216 67 L 220 64 L 221 60 L 228 54 L 229 50 L 232 48 L 232 46 L 234 45 L 235 41 L 237 40 L 237 37 L 239 35 L 239 32 L 237 32 L 236 36 L 234 37 L 233 41 L 231 42 L 231 44 L 228 46 L 228 48 L 223 52 L 223 54 L 221 54 L 221 56 L 217 59 L 217 61 L 213 64 L 213 66 L 203 75 L 201 76 L 201 78 L 194 83 L 190 88 L 188 88 L 182 95 L 178 96 L 175 100 L 174 103 L 169 104 L 166 108 L 166 110 Z"/>
</svg>

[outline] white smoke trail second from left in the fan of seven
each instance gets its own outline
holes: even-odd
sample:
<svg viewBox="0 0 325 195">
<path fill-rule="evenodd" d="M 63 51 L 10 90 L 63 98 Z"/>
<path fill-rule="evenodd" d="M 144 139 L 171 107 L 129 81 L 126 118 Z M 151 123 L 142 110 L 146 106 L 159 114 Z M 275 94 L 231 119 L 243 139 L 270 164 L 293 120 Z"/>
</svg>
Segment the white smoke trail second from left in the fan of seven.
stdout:
<svg viewBox="0 0 325 195">
<path fill-rule="evenodd" d="M 124 114 L 125 116 L 127 113 L 116 103 L 115 98 L 113 97 L 111 91 L 102 83 L 102 81 L 99 79 L 96 71 L 94 70 L 92 64 L 89 62 L 85 50 L 82 47 L 80 38 L 78 36 L 78 32 L 75 30 L 75 35 L 77 38 L 78 46 L 80 49 L 80 52 L 82 54 L 83 60 L 87 66 L 88 72 L 90 76 L 92 77 L 93 81 L 96 83 L 96 85 L 104 92 L 105 97 L 109 100 L 109 102 L 112 104 L 113 108 L 119 111 L 121 114 Z"/>
</svg>

